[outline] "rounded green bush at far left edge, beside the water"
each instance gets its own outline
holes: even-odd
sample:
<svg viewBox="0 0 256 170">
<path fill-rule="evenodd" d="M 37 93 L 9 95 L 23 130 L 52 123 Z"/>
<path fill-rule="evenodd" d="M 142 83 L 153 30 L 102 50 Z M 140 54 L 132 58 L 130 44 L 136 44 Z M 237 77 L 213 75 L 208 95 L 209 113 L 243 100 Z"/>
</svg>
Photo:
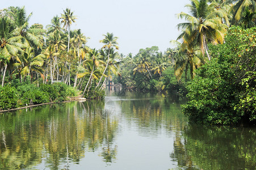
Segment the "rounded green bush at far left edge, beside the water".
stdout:
<svg viewBox="0 0 256 170">
<path fill-rule="evenodd" d="M 0 110 L 15 108 L 18 101 L 16 89 L 9 85 L 0 87 L 0 99 Z"/>
</svg>

